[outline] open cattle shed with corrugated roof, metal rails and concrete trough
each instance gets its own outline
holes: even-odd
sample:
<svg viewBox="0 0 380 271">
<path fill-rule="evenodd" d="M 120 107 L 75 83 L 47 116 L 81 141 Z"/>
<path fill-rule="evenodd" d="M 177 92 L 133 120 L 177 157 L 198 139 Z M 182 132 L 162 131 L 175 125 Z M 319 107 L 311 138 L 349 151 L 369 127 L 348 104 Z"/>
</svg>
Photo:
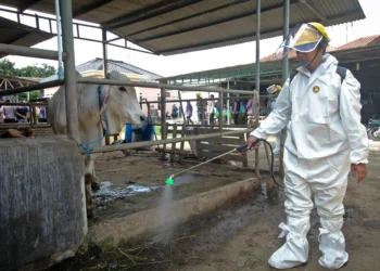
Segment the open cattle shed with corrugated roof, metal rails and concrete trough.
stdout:
<svg viewBox="0 0 380 271">
<path fill-rule="evenodd" d="M 16 9 L 16 11 L 2 9 L 2 11 L 7 10 L 16 15 L 15 24 L 1 23 L 4 29 L 2 36 L 5 37 L 13 35 L 16 28 L 25 28 L 21 23 L 22 16 L 35 17 L 35 26 L 29 26 L 33 28 L 34 34 L 41 31 L 41 20 L 48 21 L 50 25 L 56 23 L 54 18 L 43 18 L 42 16 L 26 12 L 27 10 L 43 12 L 50 15 L 60 15 L 61 24 L 59 26 L 61 27 L 58 27 L 58 31 L 52 30 L 52 27 L 50 29 L 48 27 L 48 30 L 45 30 L 48 35 L 60 36 L 60 29 L 62 28 L 62 43 L 59 42 L 58 52 L 28 48 L 34 44 L 33 42 L 23 44 L 14 43 L 17 38 L 20 39 L 23 35 L 27 35 L 23 33 L 13 39 L 3 40 L 3 43 L 0 44 L 0 54 L 17 54 L 59 60 L 60 63 L 63 62 L 64 74 L 60 69 L 58 80 L 38 83 L 33 87 L 27 86 L 2 91 L 1 95 L 64 85 L 66 90 L 67 133 L 69 136 L 63 137 L 64 139 L 61 141 L 55 140 L 56 138 L 54 137 L 45 142 L 39 141 L 38 144 L 31 143 L 33 140 L 29 139 L 21 139 L 20 142 L 17 140 L 10 140 L 15 145 L 14 150 L 17 149 L 17 151 L 12 152 L 10 147 L 1 149 L 3 160 L 16 160 L 20 165 L 27 163 L 26 159 L 33 160 L 33 163 L 27 164 L 28 170 L 25 171 L 24 169 L 24 171 L 21 171 L 24 172 L 22 178 L 18 178 L 18 172 L 14 170 L 5 170 L 4 172 L 7 177 L 7 182 L 4 183 L 9 188 L 1 190 L 5 194 L 0 198 L 3 201 L 1 202 L 2 204 L 9 206 L 7 212 L 3 212 L 2 208 L 0 212 L 0 220 L 2 221 L 2 225 L 4 225 L 1 231 L 4 235 L 2 236 L 3 242 L 0 247 L 1 255 L 4 257 L 1 258 L 0 267 L 4 270 L 18 268 L 28 263 L 34 264 L 35 262 L 38 262 L 35 267 L 41 268 L 42 266 L 71 257 L 81 245 L 87 234 L 85 193 L 83 193 L 84 181 L 80 178 L 84 171 L 81 167 L 77 166 L 80 157 L 78 157 L 77 145 L 74 144 L 74 142 L 79 142 L 76 83 L 161 88 L 163 109 L 165 108 L 166 89 L 194 92 L 210 91 L 207 88 L 191 88 L 165 83 L 77 78 L 75 72 L 74 38 L 102 42 L 103 69 L 106 72 L 106 50 L 109 46 L 121 47 L 115 43 L 116 40 L 125 41 L 125 46 L 122 46 L 123 48 L 162 55 L 193 52 L 255 40 L 255 55 L 257 56 L 259 55 L 261 39 L 282 34 L 287 35 L 289 27 L 297 23 L 317 21 L 324 23 L 326 26 L 330 26 L 365 17 L 358 0 L 58 0 L 55 3 L 51 0 L 0 0 L 0 4 Z M 60 14 L 55 14 L 56 10 L 60 11 Z M 77 22 L 73 23 L 73 18 L 98 24 L 99 26 L 89 26 Z M 85 38 L 81 36 L 80 29 L 86 27 L 100 29 L 102 37 L 100 39 L 92 37 Z M 28 28 L 28 30 L 30 29 Z M 140 49 L 130 47 L 130 42 L 137 44 Z M 259 89 L 259 62 L 256 63 L 255 68 L 255 86 L 256 89 Z M 282 77 L 287 76 L 287 72 L 288 61 L 286 60 L 282 63 Z M 220 93 L 232 92 L 226 89 L 217 89 L 216 91 Z M 233 93 L 244 94 L 246 91 L 233 90 Z M 257 111 L 255 112 L 255 125 L 258 125 Z M 162 127 L 165 130 L 165 118 Z M 223 132 L 220 129 L 218 132 L 212 134 L 193 136 L 193 139 L 233 136 L 250 130 L 252 129 Z M 62 141 L 65 143 L 62 144 Z M 156 142 L 97 146 L 91 150 L 91 153 L 128 150 L 147 144 L 156 145 L 160 143 L 181 141 L 186 140 L 183 138 L 178 140 L 164 139 Z M 12 144 L 7 145 L 12 146 Z M 28 156 L 23 157 L 17 155 L 23 152 L 27 153 Z M 85 154 L 83 150 L 80 153 Z M 255 170 L 257 176 L 259 176 L 257 155 L 258 152 L 256 152 Z M 67 159 L 67 157 L 71 158 Z M 36 178 L 36 176 L 40 175 L 40 169 L 46 168 L 47 165 L 49 166 L 49 170 L 43 170 L 43 176 Z M 12 168 L 11 165 L 5 166 Z M 58 176 L 60 177 L 59 179 L 56 179 Z M 17 180 L 20 182 L 15 184 L 12 181 L 14 178 L 18 178 Z M 36 182 L 36 180 L 43 181 Z M 62 188 L 67 192 L 66 194 L 60 194 L 58 196 L 54 193 L 49 193 L 59 191 L 52 186 L 55 183 L 54 181 L 58 180 L 69 180 Z M 60 183 L 63 183 L 63 181 Z M 16 185 L 15 189 L 18 189 L 15 193 L 13 193 L 14 185 Z M 27 185 L 33 186 L 33 196 L 29 196 L 30 194 L 27 193 L 29 188 Z M 43 196 L 39 196 L 39 192 Z M 81 198 L 80 193 L 83 195 Z M 7 198 L 12 198 L 12 201 L 8 202 Z M 65 204 L 64 201 L 72 202 L 71 204 Z M 20 205 L 18 203 L 23 204 Z M 33 228 L 30 228 L 30 221 L 33 221 Z M 60 224 L 62 221 L 65 222 L 64 225 Z M 56 231 L 58 228 L 60 231 Z M 7 234 L 7 232 L 12 232 L 12 234 Z M 106 232 L 103 231 L 103 233 Z M 38 249 L 40 247 L 43 247 L 43 249 Z"/>
</svg>

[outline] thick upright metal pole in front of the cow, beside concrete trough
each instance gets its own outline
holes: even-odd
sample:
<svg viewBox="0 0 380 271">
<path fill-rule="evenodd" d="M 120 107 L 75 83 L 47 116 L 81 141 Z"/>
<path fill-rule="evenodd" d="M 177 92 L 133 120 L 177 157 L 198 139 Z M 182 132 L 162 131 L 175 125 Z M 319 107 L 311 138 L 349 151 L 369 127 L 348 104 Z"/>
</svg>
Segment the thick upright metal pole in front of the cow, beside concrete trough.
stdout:
<svg viewBox="0 0 380 271">
<path fill-rule="evenodd" d="M 60 1 L 60 9 L 63 51 L 67 54 L 64 62 L 67 132 L 73 139 L 80 142 L 78 130 L 78 101 L 76 91 L 72 0 Z"/>
</svg>

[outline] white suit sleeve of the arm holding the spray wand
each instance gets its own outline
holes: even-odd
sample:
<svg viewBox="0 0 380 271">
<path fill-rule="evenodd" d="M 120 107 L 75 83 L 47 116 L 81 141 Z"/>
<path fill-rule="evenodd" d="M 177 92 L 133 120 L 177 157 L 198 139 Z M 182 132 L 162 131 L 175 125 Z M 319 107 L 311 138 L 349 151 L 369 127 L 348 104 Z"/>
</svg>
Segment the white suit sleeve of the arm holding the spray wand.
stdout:
<svg viewBox="0 0 380 271">
<path fill-rule="evenodd" d="M 276 134 L 286 127 L 292 111 L 289 82 L 290 79 L 288 78 L 277 98 L 275 109 L 262 121 L 257 129 L 251 132 L 251 136 L 258 139 L 266 139 L 269 134 Z"/>
</svg>

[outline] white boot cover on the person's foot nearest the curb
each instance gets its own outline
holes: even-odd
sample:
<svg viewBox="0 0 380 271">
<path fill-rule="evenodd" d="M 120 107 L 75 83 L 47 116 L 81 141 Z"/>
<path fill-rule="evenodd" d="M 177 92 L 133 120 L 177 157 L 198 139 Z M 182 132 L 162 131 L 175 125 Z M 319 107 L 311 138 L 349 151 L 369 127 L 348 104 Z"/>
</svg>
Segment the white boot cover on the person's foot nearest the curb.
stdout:
<svg viewBox="0 0 380 271">
<path fill-rule="evenodd" d="M 287 242 L 275 251 L 268 263 L 273 268 L 288 269 L 305 263 L 308 259 L 308 242 L 306 234 L 311 229 L 309 217 L 288 217 L 288 224 L 281 223 L 279 238 L 287 236 Z"/>
</svg>

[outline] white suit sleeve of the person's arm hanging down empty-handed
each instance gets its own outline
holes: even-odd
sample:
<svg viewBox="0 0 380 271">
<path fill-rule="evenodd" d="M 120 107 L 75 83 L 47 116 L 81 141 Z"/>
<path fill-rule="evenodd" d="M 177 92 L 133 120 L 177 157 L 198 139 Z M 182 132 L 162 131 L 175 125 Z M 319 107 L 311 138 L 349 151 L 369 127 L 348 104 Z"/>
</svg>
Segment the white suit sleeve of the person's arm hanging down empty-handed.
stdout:
<svg viewBox="0 0 380 271">
<path fill-rule="evenodd" d="M 351 164 L 368 164 L 368 137 L 360 124 L 360 83 L 347 70 L 340 91 L 340 115 L 351 147 Z"/>
</svg>

